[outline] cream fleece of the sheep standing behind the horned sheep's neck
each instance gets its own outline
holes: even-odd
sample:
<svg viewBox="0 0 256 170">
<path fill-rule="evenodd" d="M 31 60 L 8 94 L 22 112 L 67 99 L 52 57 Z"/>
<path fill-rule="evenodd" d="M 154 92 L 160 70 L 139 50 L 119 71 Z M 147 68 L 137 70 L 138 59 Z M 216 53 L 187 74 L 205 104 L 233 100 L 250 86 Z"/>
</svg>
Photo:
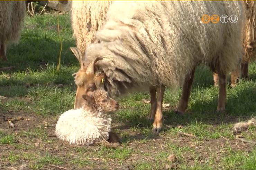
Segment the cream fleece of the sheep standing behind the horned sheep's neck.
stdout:
<svg viewBox="0 0 256 170">
<path fill-rule="evenodd" d="M 76 46 L 83 53 L 96 40 L 95 32 L 101 27 L 111 1 L 72 1 L 71 20 Z"/>
</svg>

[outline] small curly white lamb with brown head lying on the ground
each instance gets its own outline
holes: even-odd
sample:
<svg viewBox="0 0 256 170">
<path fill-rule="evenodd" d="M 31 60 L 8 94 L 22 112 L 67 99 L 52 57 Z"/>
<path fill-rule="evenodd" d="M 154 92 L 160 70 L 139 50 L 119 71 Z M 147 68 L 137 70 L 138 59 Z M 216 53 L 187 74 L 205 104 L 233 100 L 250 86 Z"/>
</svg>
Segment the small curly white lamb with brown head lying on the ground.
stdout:
<svg viewBox="0 0 256 170">
<path fill-rule="evenodd" d="M 118 136 L 110 132 L 111 118 L 108 115 L 118 110 L 119 104 L 104 90 L 97 90 L 91 96 L 83 95 L 83 98 L 83 107 L 68 110 L 60 116 L 56 136 L 76 145 L 94 145 L 100 140 L 119 141 Z"/>
</svg>

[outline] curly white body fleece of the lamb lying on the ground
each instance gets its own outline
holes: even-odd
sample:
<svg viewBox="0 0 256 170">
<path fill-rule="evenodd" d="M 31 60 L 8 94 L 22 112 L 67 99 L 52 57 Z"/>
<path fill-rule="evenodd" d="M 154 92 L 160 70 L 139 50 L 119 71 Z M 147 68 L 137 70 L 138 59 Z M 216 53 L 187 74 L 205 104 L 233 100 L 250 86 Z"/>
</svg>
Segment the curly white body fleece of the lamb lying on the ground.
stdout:
<svg viewBox="0 0 256 170">
<path fill-rule="evenodd" d="M 61 140 L 75 145 L 90 145 L 109 138 L 111 118 L 82 108 L 70 109 L 60 116 L 55 128 L 55 134 Z"/>
</svg>

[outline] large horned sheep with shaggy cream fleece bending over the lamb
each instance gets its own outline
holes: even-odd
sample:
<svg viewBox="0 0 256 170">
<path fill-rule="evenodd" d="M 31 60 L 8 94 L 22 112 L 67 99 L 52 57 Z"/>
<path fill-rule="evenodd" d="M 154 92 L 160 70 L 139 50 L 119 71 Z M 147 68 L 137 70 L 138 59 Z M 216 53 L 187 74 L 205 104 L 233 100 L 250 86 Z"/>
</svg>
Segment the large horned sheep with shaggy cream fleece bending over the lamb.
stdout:
<svg viewBox="0 0 256 170">
<path fill-rule="evenodd" d="M 153 131 L 158 133 L 163 127 L 165 87 L 186 86 L 196 65 L 205 63 L 219 74 L 217 110 L 223 111 L 226 74 L 241 56 L 243 13 L 239 1 L 114 1 L 96 32 L 100 43 L 86 47 L 84 66 L 75 75 L 76 95 L 85 93 L 84 84 L 89 84 L 89 90 L 104 87 L 112 97 L 148 89 L 156 97 L 158 86 L 153 113 Z M 203 14 L 235 14 L 238 21 L 204 24 Z M 73 52 L 82 55 L 78 49 Z"/>
</svg>

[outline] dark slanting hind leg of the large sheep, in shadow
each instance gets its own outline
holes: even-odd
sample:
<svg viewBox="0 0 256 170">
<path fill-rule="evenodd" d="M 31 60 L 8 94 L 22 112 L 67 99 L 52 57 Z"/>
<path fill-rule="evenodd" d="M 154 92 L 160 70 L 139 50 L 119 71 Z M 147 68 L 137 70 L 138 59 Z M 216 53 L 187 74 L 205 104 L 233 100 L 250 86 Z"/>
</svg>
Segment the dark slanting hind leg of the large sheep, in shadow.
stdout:
<svg viewBox="0 0 256 170">
<path fill-rule="evenodd" d="M 190 96 L 191 87 L 192 87 L 193 80 L 194 80 L 194 73 L 195 73 L 195 67 L 186 76 L 185 82 L 182 87 L 182 94 L 181 94 L 179 106 L 178 106 L 177 110 L 175 111 L 175 113 L 177 113 L 177 114 L 183 114 L 184 111 L 186 110 L 186 108 L 188 107 L 189 96 Z"/>
</svg>

